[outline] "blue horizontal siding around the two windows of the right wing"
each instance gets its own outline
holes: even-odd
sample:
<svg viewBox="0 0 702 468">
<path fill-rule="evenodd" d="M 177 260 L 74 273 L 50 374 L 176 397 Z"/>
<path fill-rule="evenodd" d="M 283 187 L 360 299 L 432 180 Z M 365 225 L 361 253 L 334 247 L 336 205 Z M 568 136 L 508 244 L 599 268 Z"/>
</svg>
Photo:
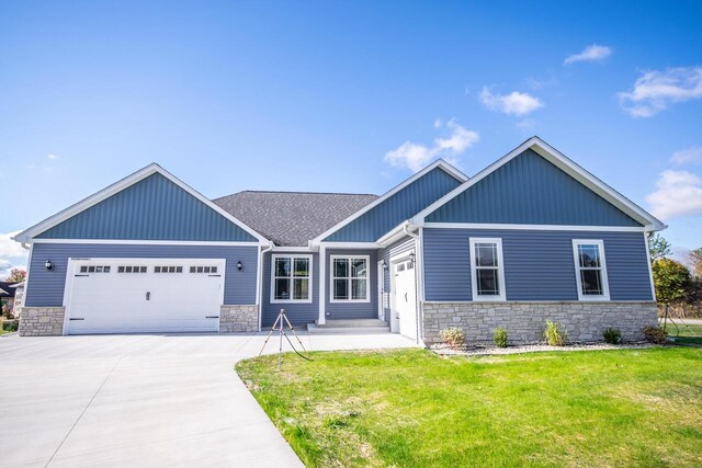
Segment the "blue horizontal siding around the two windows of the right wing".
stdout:
<svg viewBox="0 0 702 468">
<path fill-rule="evenodd" d="M 601 239 L 611 300 L 653 300 L 643 232 L 424 228 L 424 299 L 472 300 L 468 239 L 502 239 L 507 300 L 578 300 L 573 239 Z"/>
</svg>

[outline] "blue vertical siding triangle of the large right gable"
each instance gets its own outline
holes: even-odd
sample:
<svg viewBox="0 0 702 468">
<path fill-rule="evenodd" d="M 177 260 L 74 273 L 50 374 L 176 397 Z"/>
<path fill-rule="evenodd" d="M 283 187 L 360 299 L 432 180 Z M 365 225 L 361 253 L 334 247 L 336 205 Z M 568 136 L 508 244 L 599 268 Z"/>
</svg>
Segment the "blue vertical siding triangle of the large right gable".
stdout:
<svg viewBox="0 0 702 468">
<path fill-rule="evenodd" d="M 641 226 L 531 149 L 430 213 L 426 221 Z"/>
</svg>

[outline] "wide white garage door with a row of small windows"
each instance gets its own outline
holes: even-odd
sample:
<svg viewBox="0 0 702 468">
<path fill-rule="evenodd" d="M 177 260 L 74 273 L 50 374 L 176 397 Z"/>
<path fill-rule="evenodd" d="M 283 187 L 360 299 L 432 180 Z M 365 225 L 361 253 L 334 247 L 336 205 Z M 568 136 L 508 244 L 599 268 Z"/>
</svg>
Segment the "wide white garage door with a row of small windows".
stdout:
<svg viewBox="0 0 702 468">
<path fill-rule="evenodd" d="M 73 259 L 68 333 L 217 331 L 224 272 L 220 259 Z"/>
</svg>

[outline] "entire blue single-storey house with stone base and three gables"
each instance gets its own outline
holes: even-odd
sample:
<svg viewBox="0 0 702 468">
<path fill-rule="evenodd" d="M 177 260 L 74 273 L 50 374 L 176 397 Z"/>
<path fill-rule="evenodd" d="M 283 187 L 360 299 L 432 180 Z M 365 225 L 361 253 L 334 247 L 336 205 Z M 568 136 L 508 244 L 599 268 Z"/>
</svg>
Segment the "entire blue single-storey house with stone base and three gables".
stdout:
<svg viewBox="0 0 702 468">
<path fill-rule="evenodd" d="M 634 339 L 656 323 L 647 236 L 664 228 L 537 137 L 473 178 L 438 160 L 382 196 L 211 201 L 150 164 L 15 237 L 32 249 L 20 332 L 258 331 L 285 309 L 424 343 L 446 327 L 537 341 L 546 320 Z"/>
</svg>

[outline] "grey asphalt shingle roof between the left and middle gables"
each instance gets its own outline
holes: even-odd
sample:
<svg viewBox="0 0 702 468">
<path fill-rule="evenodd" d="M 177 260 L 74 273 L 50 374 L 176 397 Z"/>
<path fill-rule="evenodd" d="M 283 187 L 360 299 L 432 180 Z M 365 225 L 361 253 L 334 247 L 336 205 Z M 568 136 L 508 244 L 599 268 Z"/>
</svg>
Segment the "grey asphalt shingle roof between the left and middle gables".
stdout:
<svg viewBox="0 0 702 468">
<path fill-rule="evenodd" d="M 307 246 L 377 195 L 246 191 L 213 202 L 278 246 Z"/>
</svg>

